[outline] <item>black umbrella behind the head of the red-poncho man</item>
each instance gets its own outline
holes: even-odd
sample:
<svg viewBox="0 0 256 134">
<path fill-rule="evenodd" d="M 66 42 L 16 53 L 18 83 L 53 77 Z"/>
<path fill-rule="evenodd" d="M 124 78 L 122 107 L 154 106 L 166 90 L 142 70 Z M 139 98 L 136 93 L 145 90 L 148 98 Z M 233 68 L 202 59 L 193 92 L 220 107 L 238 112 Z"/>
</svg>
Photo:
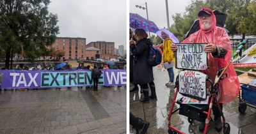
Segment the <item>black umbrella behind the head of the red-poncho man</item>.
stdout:
<svg viewBox="0 0 256 134">
<path fill-rule="evenodd" d="M 221 13 L 218 10 L 214 10 L 213 11 L 215 17 L 216 17 L 216 26 L 218 27 L 224 27 L 225 21 L 227 19 L 227 15 L 225 13 Z M 199 26 L 199 19 L 196 19 L 193 23 L 193 25 L 191 26 L 191 28 L 189 29 L 188 33 L 185 36 L 185 39 L 188 38 L 188 36 L 190 34 L 195 33 L 196 31 L 198 31 L 200 29 Z M 226 30 L 227 31 L 227 30 Z"/>
</svg>

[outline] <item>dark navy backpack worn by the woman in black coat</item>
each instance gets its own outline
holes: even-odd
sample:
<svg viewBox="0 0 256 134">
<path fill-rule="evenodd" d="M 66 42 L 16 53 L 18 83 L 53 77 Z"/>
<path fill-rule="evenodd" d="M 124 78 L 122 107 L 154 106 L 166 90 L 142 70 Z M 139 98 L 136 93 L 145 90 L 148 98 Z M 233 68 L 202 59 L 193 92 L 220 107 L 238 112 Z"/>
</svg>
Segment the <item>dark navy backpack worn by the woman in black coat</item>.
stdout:
<svg viewBox="0 0 256 134">
<path fill-rule="evenodd" d="M 157 66 L 157 64 L 160 64 L 162 62 L 162 54 L 161 52 L 153 47 L 152 45 L 149 45 L 149 56 L 147 57 L 147 63 L 150 66 Z"/>
</svg>

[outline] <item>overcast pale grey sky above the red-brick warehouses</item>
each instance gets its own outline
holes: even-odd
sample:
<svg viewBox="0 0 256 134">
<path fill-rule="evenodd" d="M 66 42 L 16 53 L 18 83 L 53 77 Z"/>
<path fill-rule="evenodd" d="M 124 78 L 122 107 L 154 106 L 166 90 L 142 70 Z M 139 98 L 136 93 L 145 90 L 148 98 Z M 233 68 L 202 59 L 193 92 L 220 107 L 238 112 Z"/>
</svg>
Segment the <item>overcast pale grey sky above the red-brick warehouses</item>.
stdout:
<svg viewBox="0 0 256 134">
<path fill-rule="evenodd" d="M 49 11 L 58 15 L 58 36 L 113 41 L 126 48 L 125 0 L 51 0 Z"/>
</svg>

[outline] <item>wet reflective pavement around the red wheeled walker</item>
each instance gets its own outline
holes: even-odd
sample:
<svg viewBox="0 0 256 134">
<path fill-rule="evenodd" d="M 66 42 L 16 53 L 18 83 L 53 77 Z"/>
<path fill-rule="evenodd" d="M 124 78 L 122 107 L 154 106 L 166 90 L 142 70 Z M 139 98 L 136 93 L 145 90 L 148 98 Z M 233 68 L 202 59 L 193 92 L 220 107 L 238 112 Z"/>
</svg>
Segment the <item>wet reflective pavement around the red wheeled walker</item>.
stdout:
<svg viewBox="0 0 256 134">
<path fill-rule="evenodd" d="M 179 70 L 175 70 L 175 78 Z M 168 114 L 174 96 L 173 87 L 166 87 L 168 72 L 154 68 L 154 82 L 156 84 L 157 101 L 150 100 L 150 103 L 141 103 L 140 92 L 130 93 L 130 112 L 150 123 L 147 133 L 168 133 Z M 130 86 L 132 89 L 132 86 Z M 178 94 L 177 98 L 180 94 Z M 253 134 L 256 133 L 256 108 L 247 107 L 244 114 L 238 111 L 239 99 L 223 105 L 223 113 L 226 122 L 230 124 L 230 134 Z M 175 105 L 174 110 L 179 108 Z M 213 115 L 212 115 L 213 118 Z M 188 118 L 176 112 L 172 115 L 172 124 L 184 133 L 198 134 L 199 122 L 188 123 Z M 136 133 L 130 125 L 130 133 Z M 217 134 L 214 124 L 211 123 L 208 133 Z M 223 133 L 221 131 L 220 133 Z"/>
</svg>

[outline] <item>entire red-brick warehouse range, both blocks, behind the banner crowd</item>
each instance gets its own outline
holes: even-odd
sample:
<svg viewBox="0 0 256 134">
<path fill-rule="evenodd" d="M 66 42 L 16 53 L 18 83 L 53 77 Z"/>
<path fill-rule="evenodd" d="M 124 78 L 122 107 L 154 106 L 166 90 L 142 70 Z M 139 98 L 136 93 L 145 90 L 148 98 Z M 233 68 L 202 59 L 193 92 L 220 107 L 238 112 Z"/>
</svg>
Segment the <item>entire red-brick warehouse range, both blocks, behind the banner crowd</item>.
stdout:
<svg viewBox="0 0 256 134">
<path fill-rule="evenodd" d="M 95 41 L 86 45 L 86 38 L 57 37 L 52 48 L 65 53 L 63 60 L 116 58 L 114 42 Z"/>
</svg>

